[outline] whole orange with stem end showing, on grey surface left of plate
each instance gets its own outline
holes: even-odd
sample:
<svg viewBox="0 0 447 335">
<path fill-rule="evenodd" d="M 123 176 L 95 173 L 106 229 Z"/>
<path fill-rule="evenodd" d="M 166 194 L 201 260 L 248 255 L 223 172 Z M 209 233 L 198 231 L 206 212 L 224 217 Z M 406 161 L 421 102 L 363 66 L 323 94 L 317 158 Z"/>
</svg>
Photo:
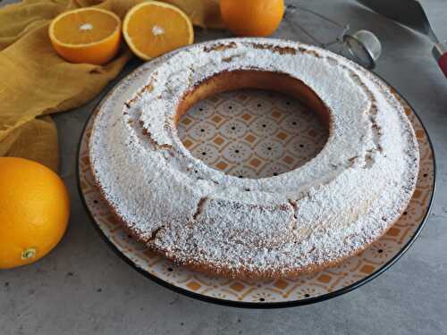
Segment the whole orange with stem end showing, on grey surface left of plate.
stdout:
<svg viewBox="0 0 447 335">
<path fill-rule="evenodd" d="M 0 269 L 30 264 L 63 237 L 70 200 L 63 181 L 44 165 L 0 157 Z"/>
</svg>

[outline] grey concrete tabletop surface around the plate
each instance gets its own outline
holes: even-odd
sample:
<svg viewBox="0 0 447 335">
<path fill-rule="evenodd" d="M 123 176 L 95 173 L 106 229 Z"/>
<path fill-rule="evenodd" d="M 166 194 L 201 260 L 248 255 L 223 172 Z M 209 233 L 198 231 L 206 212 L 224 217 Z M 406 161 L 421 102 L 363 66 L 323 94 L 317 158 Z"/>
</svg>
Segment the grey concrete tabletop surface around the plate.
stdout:
<svg viewBox="0 0 447 335">
<path fill-rule="evenodd" d="M 350 21 L 353 28 L 371 29 L 382 39 L 384 54 L 375 72 L 409 100 L 433 139 L 438 194 L 426 228 L 409 252 L 367 285 L 312 306 L 244 310 L 164 289 L 105 245 L 81 205 L 76 151 L 98 97 L 55 117 L 62 176 L 72 196 L 70 227 L 55 250 L 37 264 L 0 272 L 1 335 L 447 334 L 447 80 L 431 57 L 432 45 L 354 2 L 301 3 L 335 20 Z M 447 2 L 425 0 L 423 4 L 439 36 L 447 38 Z M 276 37 L 303 38 L 291 28 L 291 20 L 283 23 Z M 322 36 L 328 33 L 324 24 L 308 24 Z M 198 39 L 223 36 L 201 31 Z M 138 65 L 132 62 L 127 71 Z"/>
</svg>

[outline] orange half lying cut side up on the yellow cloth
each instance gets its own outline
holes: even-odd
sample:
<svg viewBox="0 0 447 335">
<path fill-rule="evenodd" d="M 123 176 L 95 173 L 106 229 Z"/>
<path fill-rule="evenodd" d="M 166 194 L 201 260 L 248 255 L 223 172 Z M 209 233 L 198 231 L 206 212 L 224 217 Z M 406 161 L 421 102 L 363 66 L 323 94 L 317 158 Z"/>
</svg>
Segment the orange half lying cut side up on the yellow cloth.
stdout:
<svg viewBox="0 0 447 335">
<path fill-rule="evenodd" d="M 100 8 L 80 8 L 60 14 L 48 29 L 51 43 L 72 63 L 105 64 L 120 48 L 121 20 Z"/>
</svg>

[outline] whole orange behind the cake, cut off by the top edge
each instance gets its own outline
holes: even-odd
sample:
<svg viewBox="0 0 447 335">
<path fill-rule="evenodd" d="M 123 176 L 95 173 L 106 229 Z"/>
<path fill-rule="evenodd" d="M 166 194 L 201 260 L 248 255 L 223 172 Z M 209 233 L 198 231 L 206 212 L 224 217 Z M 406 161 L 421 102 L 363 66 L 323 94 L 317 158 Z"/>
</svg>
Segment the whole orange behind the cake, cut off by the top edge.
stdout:
<svg viewBox="0 0 447 335">
<path fill-rule="evenodd" d="M 238 36 L 271 35 L 283 20 L 283 0 L 221 0 L 223 22 Z"/>
</svg>

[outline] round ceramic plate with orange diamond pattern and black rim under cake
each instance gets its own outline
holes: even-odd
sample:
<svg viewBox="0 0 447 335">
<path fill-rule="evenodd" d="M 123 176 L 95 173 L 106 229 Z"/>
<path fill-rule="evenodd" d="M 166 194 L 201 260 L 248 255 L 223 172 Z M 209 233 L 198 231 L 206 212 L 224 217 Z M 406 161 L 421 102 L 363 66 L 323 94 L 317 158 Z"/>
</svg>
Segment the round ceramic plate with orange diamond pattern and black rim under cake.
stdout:
<svg viewBox="0 0 447 335">
<path fill-rule="evenodd" d="M 122 80 L 97 107 L 120 108 L 170 54 L 145 63 Z M 401 219 L 364 252 L 338 266 L 296 280 L 240 281 L 191 272 L 131 239 L 101 200 L 89 169 L 90 118 L 80 139 L 79 188 L 101 234 L 129 264 L 177 292 L 210 302 L 243 307 L 299 306 L 356 289 L 384 272 L 409 248 L 422 229 L 434 196 L 434 152 L 417 114 L 406 106 L 420 150 L 417 189 Z M 209 166 L 240 178 L 262 178 L 290 171 L 315 156 L 327 134 L 314 113 L 277 93 L 241 90 L 212 96 L 181 117 L 180 138 Z"/>
</svg>

